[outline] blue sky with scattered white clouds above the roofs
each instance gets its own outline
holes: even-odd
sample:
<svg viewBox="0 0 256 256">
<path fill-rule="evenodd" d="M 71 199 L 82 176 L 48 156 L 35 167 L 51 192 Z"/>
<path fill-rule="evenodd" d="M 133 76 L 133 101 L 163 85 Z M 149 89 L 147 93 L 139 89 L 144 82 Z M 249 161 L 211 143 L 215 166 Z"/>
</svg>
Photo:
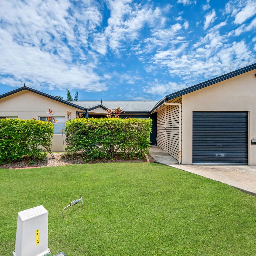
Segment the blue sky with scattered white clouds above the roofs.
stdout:
<svg viewBox="0 0 256 256">
<path fill-rule="evenodd" d="M 0 94 L 160 100 L 255 53 L 256 0 L 0 1 Z"/>
</svg>

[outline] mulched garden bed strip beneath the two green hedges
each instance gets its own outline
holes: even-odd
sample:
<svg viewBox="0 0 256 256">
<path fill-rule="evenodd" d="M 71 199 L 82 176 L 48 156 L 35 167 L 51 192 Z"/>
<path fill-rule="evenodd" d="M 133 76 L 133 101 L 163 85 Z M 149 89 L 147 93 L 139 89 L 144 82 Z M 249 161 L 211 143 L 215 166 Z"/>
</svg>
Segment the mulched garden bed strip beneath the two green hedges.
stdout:
<svg viewBox="0 0 256 256">
<path fill-rule="evenodd" d="M 46 156 L 45 159 L 37 161 L 33 164 L 29 164 L 29 159 L 23 159 L 21 161 L 15 161 L 12 163 L 2 164 L 0 168 L 5 169 L 30 169 L 30 168 L 39 168 L 39 167 L 55 167 L 55 166 L 63 166 L 63 165 L 71 165 L 71 164 L 95 164 L 95 163 L 111 163 L 111 162 L 154 162 L 155 160 L 152 156 L 148 155 L 147 159 L 138 159 L 138 160 L 123 160 L 123 159 L 115 159 L 115 160 L 97 160 L 97 161 L 89 161 L 86 162 L 79 158 L 66 158 L 62 157 L 64 153 L 54 153 L 55 159 L 52 159 L 50 154 Z"/>
</svg>

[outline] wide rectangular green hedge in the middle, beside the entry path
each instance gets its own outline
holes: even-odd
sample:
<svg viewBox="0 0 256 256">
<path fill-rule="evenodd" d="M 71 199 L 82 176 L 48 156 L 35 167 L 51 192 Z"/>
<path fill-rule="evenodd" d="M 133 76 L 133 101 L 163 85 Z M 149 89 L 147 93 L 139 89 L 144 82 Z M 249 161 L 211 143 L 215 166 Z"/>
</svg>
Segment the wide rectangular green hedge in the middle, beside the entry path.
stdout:
<svg viewBox="0 0 256 256">
<path fill-rule="evenodd" d="M 142 159 L 149 152 L 151 129 L 151 119 L 73 119 L 66 123 L 66 151 L 91 160 Z"/>
</svg>

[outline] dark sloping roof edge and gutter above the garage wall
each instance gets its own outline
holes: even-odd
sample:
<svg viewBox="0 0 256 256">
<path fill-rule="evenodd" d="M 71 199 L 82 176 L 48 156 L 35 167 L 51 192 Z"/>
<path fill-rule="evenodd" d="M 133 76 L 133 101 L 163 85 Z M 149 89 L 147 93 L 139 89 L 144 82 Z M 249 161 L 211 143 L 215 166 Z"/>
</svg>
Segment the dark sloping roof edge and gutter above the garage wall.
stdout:
<svg viewBox="0 0 256 256">
<path fill-rule="evenodd" d="M 221 76 L 217 76 L 213 79 L 207 80 L 207 81 L 202 82 L 200 84 L 193 85 L 193 86 L 185 88 L 183 90 L 168 94 L 168 95 L 164 96 L 155 106 L 153 106 L 153 108 L 150 109 L 150 112 L 159 108 L 164 103 L 164 101 L 175 99 L 177 97 L 183 96 L 183 95 L 188 94 L 190 92 L 197 91 L 197 90 L 202 89 L 204 87 L 207 87 L 209 85 L 216 84 L 218 82 L 224 81 L 224 80 L 229 79 L 229 78 L 234 77 L 234 76 L 241 75 L 243 73 L 246 73 L 248 71 L 252 71 L 254 69 L 256 69 L 256 63 L 254 63 L 252 65 L 249 65 L 249 66 L 246 66 L 244 68 L 239 68 L 239 69 L 237 69 L 235 71 L 232 71 L 230 73 L 227 73 L 227 74 L 224 74 L 224 75 L 221 75 Z"/>
</svg>

